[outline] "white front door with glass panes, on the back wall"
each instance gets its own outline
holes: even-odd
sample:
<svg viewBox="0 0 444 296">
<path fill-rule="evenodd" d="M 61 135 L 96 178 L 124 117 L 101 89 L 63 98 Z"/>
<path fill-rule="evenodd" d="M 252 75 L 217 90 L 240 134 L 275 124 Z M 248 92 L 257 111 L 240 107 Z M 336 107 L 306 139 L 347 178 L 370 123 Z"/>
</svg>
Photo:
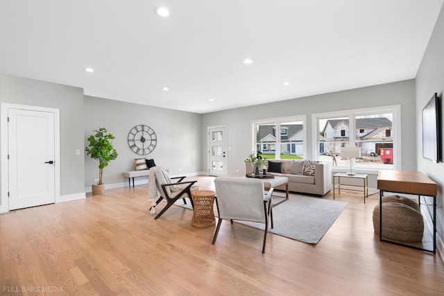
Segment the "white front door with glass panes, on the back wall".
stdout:
<svg viewBox="0 0 444 296">
<path fill-rule="evenodd" d="M 208 128 L 208 172 L 210 176 L 227 175 L 227 128 Z"/>
</svg>

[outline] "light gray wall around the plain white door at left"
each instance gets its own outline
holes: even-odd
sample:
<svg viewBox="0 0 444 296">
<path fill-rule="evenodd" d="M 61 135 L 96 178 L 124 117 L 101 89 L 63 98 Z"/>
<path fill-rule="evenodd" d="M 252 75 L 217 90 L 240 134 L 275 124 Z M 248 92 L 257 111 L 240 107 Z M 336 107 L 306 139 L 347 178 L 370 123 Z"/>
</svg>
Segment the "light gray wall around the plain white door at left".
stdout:
<svg viewBox="0 0 444 296">
<path fill-rule="evenodd" d="M 60 110 L 60 194 L 84 197 L 85 159 L 76 155 L 83 148 L 83 89 L 0 74 L 0 103 Z"/>
</svg>

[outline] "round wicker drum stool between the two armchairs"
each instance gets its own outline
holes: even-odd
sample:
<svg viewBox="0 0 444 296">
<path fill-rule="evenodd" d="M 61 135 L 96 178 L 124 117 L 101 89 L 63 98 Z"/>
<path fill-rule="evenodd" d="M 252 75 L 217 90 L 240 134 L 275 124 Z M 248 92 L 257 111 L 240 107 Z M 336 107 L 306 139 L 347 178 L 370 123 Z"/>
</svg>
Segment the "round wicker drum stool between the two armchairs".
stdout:
<svg viewBox="0 0 444 296">
<path fill-rule="evenodd" d="M 191 225 L 194 227 L 210 227 L 216 224 L 214 218 L 214 195 L 216 192 L 211 190 L 198 190 L 191 192 L 194 202 L 193 218 Z"/>
</svg>

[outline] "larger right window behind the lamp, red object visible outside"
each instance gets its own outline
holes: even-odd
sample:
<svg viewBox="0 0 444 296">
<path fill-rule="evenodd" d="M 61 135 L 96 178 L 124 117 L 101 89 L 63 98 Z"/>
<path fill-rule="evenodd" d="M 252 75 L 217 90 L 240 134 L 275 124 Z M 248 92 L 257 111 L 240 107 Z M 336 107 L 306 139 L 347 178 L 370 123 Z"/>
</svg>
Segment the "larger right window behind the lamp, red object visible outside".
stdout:
<svg viewBox="0 0 444 296">
<path fill-rule="evenodd" d="M 349 159 L 341 158 L 341 147 L 361 148 L 356 159 L 357 170 L 379 170 L 400 167 L 400 106 L 376 107 L 314 114 L 317 128 L 318 159 L 331 162 L 339 169 L 350 166 Z M 387 150 L 389 153 L 387 153 Z M 387 156 L 389 155 L 389 156 Z"/>
</svg>

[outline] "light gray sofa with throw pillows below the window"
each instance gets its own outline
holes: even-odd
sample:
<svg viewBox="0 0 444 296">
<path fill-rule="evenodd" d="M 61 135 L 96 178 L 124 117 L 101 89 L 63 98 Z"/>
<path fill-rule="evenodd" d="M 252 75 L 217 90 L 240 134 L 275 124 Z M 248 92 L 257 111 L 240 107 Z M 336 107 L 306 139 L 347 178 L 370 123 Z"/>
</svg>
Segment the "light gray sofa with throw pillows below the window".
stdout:
<svg viewBox="0 0 444 296">
<path fill-rule="evenodd" d="M 281 163 L 280 171 L 276 163 Z M 289 191 L 323 196 L 332 190 L 332 165 L 327 162 L 273 159 L 268 161 L 268 173 L 289 178 Z"/>
</svg>

